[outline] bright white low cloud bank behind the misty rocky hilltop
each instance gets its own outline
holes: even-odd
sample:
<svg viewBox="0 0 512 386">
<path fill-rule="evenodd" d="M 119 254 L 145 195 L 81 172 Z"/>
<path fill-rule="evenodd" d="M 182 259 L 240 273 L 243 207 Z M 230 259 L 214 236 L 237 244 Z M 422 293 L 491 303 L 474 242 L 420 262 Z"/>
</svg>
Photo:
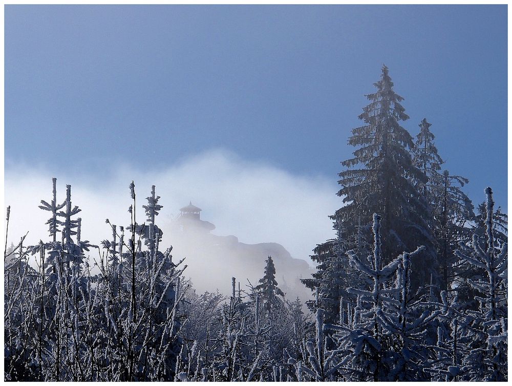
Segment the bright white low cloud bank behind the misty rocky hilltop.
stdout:
<svg viewBox="0 0 512 386">
<path fill-rule="evenodd" d="M 161 196 L 163 209 L 157 224 L 164 230 L 179 209 L 192 201 L 203 209 L 201 219 L 214 223 L 218 235 L 236 235 L 241 243 L 279 243 L 293 258 L 308 261 L 311 249 L 333 236 L 330 213 L 340 206 L 335 181 L 297 176 L 261 162 L 251 162 L 225 151 L 210 151 L 164 169 L 140 170 L 122 165 L 110 177 L 56 175 L 47 169 L 9 167 L 5 174 L 5 202 L 11 206 L 8 242 L 29 231 L 28 243 L 47 240 L 45 222 L 50 213 L 38 208 L 51 200 L 51 178 L 57 177 L 57 201 L 63 201 L 66 184 L 72 185 L 72 203 L 82 211 L 82 239 L 99 244 L 111 230 L 104 220 L 127 225 L 131 204 L 128 184 L 134 180 L 141 205 L 151 185 Z M 164 233 L 163 246 L 173 244 L 172 231 Z M 263 267 L 262 267 L 263 268 Z"/>
</svg>

